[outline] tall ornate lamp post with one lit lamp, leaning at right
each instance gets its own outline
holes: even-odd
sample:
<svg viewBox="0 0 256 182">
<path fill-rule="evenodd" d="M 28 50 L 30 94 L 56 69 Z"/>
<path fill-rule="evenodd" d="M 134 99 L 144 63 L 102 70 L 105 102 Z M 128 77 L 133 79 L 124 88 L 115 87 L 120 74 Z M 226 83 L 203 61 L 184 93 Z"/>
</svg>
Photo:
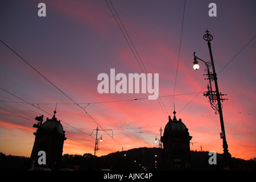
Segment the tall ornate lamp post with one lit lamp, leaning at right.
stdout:
<svg viewBox="0 0 256 182">
<path fill-rule="evenodd" d="M 229 150 L 228 150 L 228 143 L 226 142 L 226 134 L 225 134 L 225 128 L 224 128 L 224 120 L 223 120 L 223 115 L 222 115 L 222 104 L 221 102 L 223 102 L 224 100 L 227 100 L 225 98 L 222 98 L 222 96 L 226 96 L 226 94 L 221 94 L 221 92 L 219 92 L 218 90 L 218 82 L 217 82 L 217 74 L 215 72 L 215 68 L 214 68 L 214 63 L 213 63 L 213 56 L 212 56 L 212 49 L 210 46 L 210 41 L 212 41 L 213 36 L 208 34 L 209 31 L 206 31 L 207 34 L 204 35 L 204 40 L 207 41 L 208 43 L 208 48 L 209 48 L 209 52 L 210 52 L 210 61 L 205 62 L 204 60 L 201 60 L 199 57 L 197 57 L 195 55 L 196 52 L 193 53 L 194 55 L 194 62 L 193 62 L 193 68 L 195 70 L 199 69 L 199 64 L 198 64 L 198 60 L 203 61 L 205 64 L 205 67 L 207 68 L 207 80 L 209 80 L 209 84 L 208 84 L 208 92 L 204 93 L 205 97 L 209 98 L 210 101 L 210 106 L 212 106 L 212 108 L 215 110 L 215 114 L 219 114 L 220 115 L 220 123 L 221 123 L 221 138 L 223 140 L 223 151 L 224 153 L 222 154 L 222 158 L 224 158 L 225 161 L 229 161 L 229 159 L 231 158 L 231 154 L 229 154 Z M 212 71 L 210 72 L 210 67 L 212 67 Z M 215 85 L 215 91 L 213 91 L 212 89 L 212 81 L 214 81 L 214 85 Z M 217 103 L 216 103 L 217 101 Z"/>
</svg>

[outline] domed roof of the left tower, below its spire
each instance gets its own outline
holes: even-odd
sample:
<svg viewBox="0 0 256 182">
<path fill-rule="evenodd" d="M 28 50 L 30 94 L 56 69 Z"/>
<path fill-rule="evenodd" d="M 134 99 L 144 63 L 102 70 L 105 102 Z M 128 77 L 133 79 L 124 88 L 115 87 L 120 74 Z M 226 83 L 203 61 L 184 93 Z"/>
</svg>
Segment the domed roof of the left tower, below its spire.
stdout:
<svg viewBox="0 0 256 182">
<path fill-rule="evenodd" d="M 55 115 L 52 119 L 46 119 L 46 121 L 42 124 L 42 130 L 46 131 L 57 131 L 61 134 L 64 134 L 63 126 L 61 125 L 60 121 L 57 121 Z"/>
</svg>

